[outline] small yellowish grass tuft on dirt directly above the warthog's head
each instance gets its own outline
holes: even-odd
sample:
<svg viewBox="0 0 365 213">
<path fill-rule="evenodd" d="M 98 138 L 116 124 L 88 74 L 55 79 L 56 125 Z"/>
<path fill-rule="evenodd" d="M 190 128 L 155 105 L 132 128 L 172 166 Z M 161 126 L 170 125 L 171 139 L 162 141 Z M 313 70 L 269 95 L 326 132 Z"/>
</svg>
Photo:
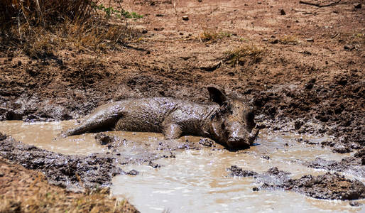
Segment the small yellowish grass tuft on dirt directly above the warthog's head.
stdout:
<svg viewBox="0 0 365 213">
<path fill-rule="evenodd" d="M 225 61 L 232 65 L 251 65 L 260 62 L 265 53 L 266 48 L 256 45 L 241 45 L 239 48 L 227 51 Z"/>
</svg>

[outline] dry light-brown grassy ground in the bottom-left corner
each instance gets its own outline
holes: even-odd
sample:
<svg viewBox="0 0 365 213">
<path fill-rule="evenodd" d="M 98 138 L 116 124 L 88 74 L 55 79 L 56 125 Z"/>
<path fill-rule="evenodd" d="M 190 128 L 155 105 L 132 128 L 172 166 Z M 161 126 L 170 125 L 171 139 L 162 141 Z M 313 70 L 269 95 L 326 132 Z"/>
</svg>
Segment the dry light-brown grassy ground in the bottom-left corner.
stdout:
<svg viewBox="0 0 365 213">
<path fill-rule="evenodd" d="M 110 197 L 109 189 L 67 192 L 49 185 L 43 173 L 0 158 L 0 212 L 138 212 Z"/>
</svg>

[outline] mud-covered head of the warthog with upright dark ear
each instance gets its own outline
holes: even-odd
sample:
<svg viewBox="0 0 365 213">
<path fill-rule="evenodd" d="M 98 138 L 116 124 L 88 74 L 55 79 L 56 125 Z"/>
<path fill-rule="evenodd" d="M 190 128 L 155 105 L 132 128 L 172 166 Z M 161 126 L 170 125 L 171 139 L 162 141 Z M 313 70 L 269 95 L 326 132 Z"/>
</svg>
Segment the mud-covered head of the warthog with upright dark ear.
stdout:
<svg viewBox="0 0 365 213">
<path fill-rule="evenodd" d="M 210 117 L 214 137 L 229 148 L 251 146 L 258 135 L 258 131 L 251 133 L 256 126 L 252 107 L 239 99 L 229 99 L 215 87 L 207 89 L 212 102 L 219 104 L 217 111 Z"/>
</svg>

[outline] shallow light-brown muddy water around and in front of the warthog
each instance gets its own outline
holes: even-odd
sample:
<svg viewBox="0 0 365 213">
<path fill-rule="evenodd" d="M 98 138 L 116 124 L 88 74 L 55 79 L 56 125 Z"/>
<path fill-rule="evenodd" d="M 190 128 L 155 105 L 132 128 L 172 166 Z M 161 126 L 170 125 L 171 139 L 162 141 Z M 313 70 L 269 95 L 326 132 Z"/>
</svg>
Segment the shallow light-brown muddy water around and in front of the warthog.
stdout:
<svg viewBox="0 0 365 213">
<path fill-rule="evenodd" d="M 5 121 L 0 122 L 0 131 L 18 141 L 59 153 L 85 155 L 107 151 L 105 146 L 97 144 L 94 133 L 60 138 L 62 129 L 73 124 L 75 121 L 33 124 Z M 125 139 L 119 148 L 122 155 L 134 155 L 151 148 L 156 151 L 155 146 L 149 144 L 166 142 L 159 133 L 112 131 L 107 134 Z M 320 175 L 325 170 L 306 168 L 301 162 L 316 157 L 340 160 L 346 156 L 332 153 L 328 148 L 296 142 L 295 138 L 300 137 L 313 142 L 328 139 L 261 133 L 256 146 L 245 151 L 202 148 L 174 153 L 176 158 L 154 160 L 160 168 L 146 163 L 121 165 L 124 170 L 134 169 L 140 174 L 116 176 L 111 192 L 116 197 L 127 198 L 141 212 L 365 212 L 365 207 L 351 207 L 349 202 L 316 200 L 295 192 L 254 192 L 252 188 L 259 185 L 254 178 L 229 177 L 227 168 L 231 165 L 258 173 L 276 166 L 292 173 L 291 178 Z M 199 138 L 183 137 L 178 142 L 186 140 L 199 141 Z M 364 178 L 350 173 L 344 175 L 365 182 Z M 365 200 L 359 202 L 365 204 Z"/>
</svg>

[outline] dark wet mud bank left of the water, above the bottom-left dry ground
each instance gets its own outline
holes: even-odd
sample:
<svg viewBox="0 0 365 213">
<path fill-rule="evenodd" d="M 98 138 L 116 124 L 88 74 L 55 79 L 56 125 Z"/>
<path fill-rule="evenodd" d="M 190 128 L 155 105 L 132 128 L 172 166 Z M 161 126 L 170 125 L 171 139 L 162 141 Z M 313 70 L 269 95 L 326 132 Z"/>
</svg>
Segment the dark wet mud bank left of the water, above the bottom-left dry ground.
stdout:
<svg viewBox="0 0 365 213">
<path fill-rule="evenodd" d="M 15 141 L 1 133 L 0 156 L 24 168 L 40 170 L 50 183 L 70 190 L 107 186 L 114 175 L 124 174 L 116 167 L 116 159 L 108 155 L 62 155 Z"/>
</svg>

